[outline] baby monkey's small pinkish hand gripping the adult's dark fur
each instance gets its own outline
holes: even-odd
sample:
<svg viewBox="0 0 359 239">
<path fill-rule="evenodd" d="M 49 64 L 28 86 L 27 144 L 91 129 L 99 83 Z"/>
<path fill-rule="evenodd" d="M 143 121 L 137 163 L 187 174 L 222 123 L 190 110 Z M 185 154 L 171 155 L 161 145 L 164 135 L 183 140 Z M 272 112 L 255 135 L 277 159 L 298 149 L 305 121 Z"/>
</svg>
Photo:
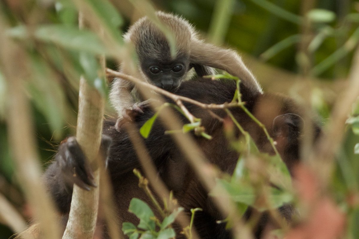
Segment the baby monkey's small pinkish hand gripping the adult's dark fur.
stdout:
<svg viewBox="0 0 359 239">
<path fill-rule="evenodd" d="M 123 124 L 132 122 L 139 114 L 143 114 L 143 109 L 150 105 L 150 99 L 139 103 L 134 103 L 130 107 L 122 110 L 122 115 L 118 117 L 115 128 L 118 132 L 121 131 Z"/>
</svg>

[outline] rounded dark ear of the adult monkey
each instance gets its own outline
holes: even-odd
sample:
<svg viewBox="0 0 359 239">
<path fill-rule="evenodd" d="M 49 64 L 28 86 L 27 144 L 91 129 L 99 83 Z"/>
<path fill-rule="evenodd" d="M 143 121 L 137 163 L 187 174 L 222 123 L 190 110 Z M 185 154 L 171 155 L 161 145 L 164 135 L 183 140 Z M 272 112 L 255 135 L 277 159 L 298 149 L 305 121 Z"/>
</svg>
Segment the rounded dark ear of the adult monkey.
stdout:
<svg viewBox="0 0 359 239">
<path fill-rule="evenodd" d="M 274 118 L 272 125 L 272 137 L 277 143 L 276 146 L 279 152 L 293 154 L 292 156 L 294 158 L 298 157 L 298 155 L 296 155 L 298 154 L 297 146 L 303 124 L 303 118 L 292 113 L 278 115 Z M 284 152 L 286 149 L 290 152 Z"/>
</svg>

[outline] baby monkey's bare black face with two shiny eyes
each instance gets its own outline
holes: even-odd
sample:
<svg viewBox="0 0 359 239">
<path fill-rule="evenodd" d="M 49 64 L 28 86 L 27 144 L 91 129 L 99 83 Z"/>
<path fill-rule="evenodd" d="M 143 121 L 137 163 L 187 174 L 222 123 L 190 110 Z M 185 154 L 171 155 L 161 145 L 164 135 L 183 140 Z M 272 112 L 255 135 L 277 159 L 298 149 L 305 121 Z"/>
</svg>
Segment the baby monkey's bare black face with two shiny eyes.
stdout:
<svg viewBox="0 0 359 239">
<path fill-rule="evenodd" d="M 190 70 L 186 57 L 173 60 L 148 58 L 141 61 L 141 69 L 150 83 L 169 92 L 175 92 Z"/>
</svg>

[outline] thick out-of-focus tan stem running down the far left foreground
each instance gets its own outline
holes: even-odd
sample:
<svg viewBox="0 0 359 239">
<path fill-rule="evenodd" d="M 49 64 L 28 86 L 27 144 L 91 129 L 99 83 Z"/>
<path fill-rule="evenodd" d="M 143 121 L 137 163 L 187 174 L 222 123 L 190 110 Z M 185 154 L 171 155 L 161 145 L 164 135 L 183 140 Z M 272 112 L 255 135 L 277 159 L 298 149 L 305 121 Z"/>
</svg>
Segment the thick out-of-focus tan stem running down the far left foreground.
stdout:
<svg viewBox="0 0 359 239">
<path fill-rule="evenodd" d="M 26 54 L 6 37 L 8 25 L 0 17 L 0 67 L 8 86 L 8 135 L 17 177 L 34 211 L 43 238 L 60 238 L 60 229 L 50 196 L 41 180 L 34 142 L 31 106 L 25 96 L 24 78 L 28 77 Z"/>
</svg>

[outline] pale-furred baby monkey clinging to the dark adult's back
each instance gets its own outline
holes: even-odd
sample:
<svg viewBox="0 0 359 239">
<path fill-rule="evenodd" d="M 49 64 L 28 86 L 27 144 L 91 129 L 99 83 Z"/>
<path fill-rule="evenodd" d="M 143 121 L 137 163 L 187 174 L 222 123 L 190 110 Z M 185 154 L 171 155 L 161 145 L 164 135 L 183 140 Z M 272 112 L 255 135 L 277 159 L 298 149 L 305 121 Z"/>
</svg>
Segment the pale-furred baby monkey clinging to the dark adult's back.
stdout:
<svg viewBox="0 0 359 239">
<path fill-rule="evenodd" d="M 192 76 L 193 67 L 197 76 L 213 75 L 213 68 L 225 70 L 239 77 L 244 85 L 262 93 L 255 77 L 242 62 L 237 52 L 205 43 L 187 20 L 173 14 L 157 12 L 159 21 L 172 31 L 176 39 L 176 54 L 171 57 L 170 46 L 163 32 L 148 18 L 136 21 L 124 35 L 127 43 L 133 44 L 138 57 L 136 73 L 130 71 L 130 62 L 121 63 L 121 72 L 134 75 L 164 90 L 175 92 L 182 81 Z M 213 67 L 213 68 L 212 68 Z M 142 102 L 136 103 L 130 92 L 134 84 L 116 78 L 112 84 L 110 101 L 118 113 L 116 129 L 130 120 L 128 110 L 141 112 Z"/>
</svg>

